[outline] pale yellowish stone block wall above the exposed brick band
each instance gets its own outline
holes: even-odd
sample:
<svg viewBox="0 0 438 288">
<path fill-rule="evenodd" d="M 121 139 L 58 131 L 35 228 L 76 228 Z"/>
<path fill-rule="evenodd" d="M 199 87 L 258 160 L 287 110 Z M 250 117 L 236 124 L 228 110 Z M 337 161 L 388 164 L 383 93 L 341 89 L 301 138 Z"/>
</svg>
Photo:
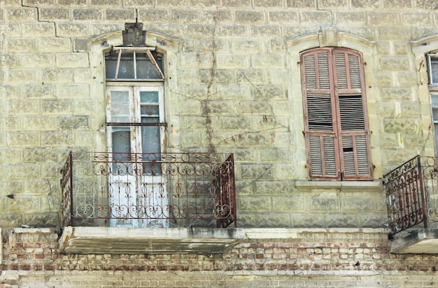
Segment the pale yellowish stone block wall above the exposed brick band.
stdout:
<svg viewBox="0 0 438 288">
<path fill-rule="evenodd" d="M 136 20 L 174 45 L 168 150 L 235 154 L 239 226 L 386 222 L 382 189 L 297 185 L 304 49 L 363 53 L 375 179 L 434 153 L 425 65 L 411 47 L 438 32 L 429 1 L 4 0 L 0 20 L 0 226 L 59 226 L 67 154 L 106 150 L 104 43 Z"/>
</svg>

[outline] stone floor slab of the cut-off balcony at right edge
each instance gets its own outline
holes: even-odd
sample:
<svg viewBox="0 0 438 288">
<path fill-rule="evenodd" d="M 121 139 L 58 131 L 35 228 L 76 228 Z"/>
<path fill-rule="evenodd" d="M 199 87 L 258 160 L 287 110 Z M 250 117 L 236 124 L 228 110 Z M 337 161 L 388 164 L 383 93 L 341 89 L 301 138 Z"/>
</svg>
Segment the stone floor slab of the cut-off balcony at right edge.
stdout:
<svg viewBox="0 0 438 288">
<path fill-rule="evenodd" d="M 394 254 L 438 254 L 438 229 L 409 229 L 391 242 Z"/>
</svg>

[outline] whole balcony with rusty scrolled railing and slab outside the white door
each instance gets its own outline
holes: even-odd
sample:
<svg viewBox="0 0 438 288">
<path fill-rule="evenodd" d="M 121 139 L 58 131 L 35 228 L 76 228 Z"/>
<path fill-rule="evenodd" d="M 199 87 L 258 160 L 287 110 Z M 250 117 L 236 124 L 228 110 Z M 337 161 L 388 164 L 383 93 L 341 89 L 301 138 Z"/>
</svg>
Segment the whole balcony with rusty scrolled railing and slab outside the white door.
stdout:
<svg viewBox="0 0 438 288">
<path fill-rule="evenodd" d="M 217 229 L 236 227 L 234 187 L 233 154 L 70 152 L 61 180 L 62 248 L 122 241 L 120 252 L 144 252 L 146 243 L 160 251 L 181 243 L 220 250 L 235 240 L 230 229 Z"/>
</svg>

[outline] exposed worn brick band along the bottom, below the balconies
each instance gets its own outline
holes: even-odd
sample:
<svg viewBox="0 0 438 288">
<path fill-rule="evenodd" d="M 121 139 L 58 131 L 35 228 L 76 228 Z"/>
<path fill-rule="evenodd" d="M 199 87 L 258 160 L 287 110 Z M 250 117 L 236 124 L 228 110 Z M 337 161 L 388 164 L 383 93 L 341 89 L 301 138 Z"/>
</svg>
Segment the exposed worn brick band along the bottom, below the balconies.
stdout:
<svg viewBox="0 0 438 288">
<path fill-rule="evenodd" d="M 31 230 L 3 233 L 0 287 L 437 285 L 438 257 L 389 254 L 384 229 L 296 229 L 296 238 L 248 238 L 210 255 L 59 254 L 54 231 Z"/>
</svg>

